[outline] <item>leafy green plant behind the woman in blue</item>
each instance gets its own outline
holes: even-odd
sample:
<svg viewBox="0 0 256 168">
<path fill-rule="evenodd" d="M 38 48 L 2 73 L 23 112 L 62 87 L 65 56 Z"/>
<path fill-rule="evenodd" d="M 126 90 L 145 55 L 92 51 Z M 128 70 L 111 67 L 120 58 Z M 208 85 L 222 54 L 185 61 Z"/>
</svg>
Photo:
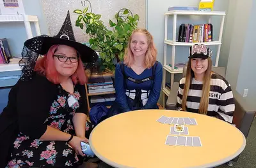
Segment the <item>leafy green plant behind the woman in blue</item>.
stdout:
<svg viewBox="0 0 256 168">
<path fill-rule="evenodd" d="M 115 22 L 109 20 L 109 30 L 100 20 L 101 15 L 88 12 L 88 7 L 74 13 L 78 14 L 76 26 L 89 34 L 90 47 L 99 52 L 102 68 L 115 72 L 115 63 L 124 60 L 129 36 L 138 27 L 140 17 L 124 8 L 116 13 Z"/>
</svg>

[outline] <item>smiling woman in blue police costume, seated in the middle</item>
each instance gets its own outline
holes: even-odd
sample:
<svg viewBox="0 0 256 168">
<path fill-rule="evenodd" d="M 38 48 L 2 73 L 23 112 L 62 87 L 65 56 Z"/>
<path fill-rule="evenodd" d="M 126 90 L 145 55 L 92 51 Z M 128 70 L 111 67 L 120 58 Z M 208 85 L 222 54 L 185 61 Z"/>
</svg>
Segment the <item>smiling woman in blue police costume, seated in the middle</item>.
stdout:
<svg viewBox="0 0 256 168">
<path fill-rule="evenodd" d="M 109 116 L 136 109 L 158 109 L 163 68 L 156 55 L 152 35 L 146 29 L 134 30 L 124 62 L 116 65 L 116 100 Z"/>
</svg>

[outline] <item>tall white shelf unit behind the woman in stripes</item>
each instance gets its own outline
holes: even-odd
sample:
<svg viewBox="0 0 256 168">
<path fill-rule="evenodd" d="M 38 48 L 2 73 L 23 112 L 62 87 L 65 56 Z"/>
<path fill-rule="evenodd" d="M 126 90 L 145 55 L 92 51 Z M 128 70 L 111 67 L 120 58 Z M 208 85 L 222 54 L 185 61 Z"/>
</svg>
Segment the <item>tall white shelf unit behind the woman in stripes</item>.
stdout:
<svg viewBox="0 0 256 168">
<path fill-rule="evenodd" d="M 221 18 L 221 24 L 220 24 L 220 34 L 218 41 L 211 41 L 211 42 L 204 42 L 204 43 L 186 43 L 186 42 L 177 42 L 176 41 L 176 32 L 177 32 L 177 16 L 178 15 L 198 15 L 198 16 L 208 16 L 209 20 L 208 23 L 211 23 L 211 16 L 220 16 Z M 182 11 L 182 10 L 173 10 L 168 11 L 167 13 L 164 13 L 164 60 L 163 60 L 163 106 L 165 104 L 165 95 L 169 96 L 170 89 L 166 88 L 166 71 L 171 74 L 171 87 L 173 85 L 174 81 L 174 74 L 182 73 L 182 69 L 177 70 L 174 69 L 174 66 L 170 67 L 168 66 L 166 62 L 167 57 L 167 45 L 172 46 L 172 61 L 171 64 L 175 64 L 175 49 L 177 46 L 192 46 L 195 44 L 204 44 L 207 46 L 211 45 L 218 45 L 217 55 L 216 55 L 216 61 L 214 66 L 218 66 L 219 57 L 220 57 L 220 48 L 221 48 L 221 39 L 222 39 L 222 33 L 223 33 L 223 26 L 224 26 L 224 20 L 225 20 L 225 11 Z M 168 34 L 168 17 L 173 17 L 173 30 L 172 30 L 172 39 L 167 38 Z"/>
</svg>

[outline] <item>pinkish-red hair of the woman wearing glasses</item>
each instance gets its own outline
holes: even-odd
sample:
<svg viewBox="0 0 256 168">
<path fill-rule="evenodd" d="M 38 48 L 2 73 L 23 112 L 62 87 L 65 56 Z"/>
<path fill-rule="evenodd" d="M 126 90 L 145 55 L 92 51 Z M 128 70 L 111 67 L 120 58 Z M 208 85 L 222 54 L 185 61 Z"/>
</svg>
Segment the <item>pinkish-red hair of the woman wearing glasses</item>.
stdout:
<svg viewBox="0 0 256 168">
<path fill-rule="evenodd" d="M 56 67 L 54 66 L 53 55 L 54 52 L 58 49 L 59 45 L 53 45 L 48 50 L 48 52 L 44 55 L 44 57 L 38 59 L 36 61 L 34 71 L 44 74 L 45 77 L 54 84 L 59 84 L 60 74 L 56 71 Z M 80 85 L 84 85 L 87 81 L 87 76 L 85 74 L 83 63 L 81 57 L 78 60 L 78 66 L 76 72 L 72 74 L 71 79 L 73 83 L 76 85 L 79 83 Z"/>
</svg>

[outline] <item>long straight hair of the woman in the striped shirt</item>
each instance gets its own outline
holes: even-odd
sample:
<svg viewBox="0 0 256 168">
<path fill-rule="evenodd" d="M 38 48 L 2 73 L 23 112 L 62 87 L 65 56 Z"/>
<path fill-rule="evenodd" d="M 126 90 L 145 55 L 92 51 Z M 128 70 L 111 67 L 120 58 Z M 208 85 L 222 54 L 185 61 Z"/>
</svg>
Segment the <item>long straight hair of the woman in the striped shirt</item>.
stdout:
<svg viewBox="0 0 256 168">
<path fill-rule="evenodd" d="M 208 57 L 208 67 L 204 74 L 203 88 L 202 88 L 202 97 L 200 99 L 200 106 L 198 112 L 200 114 L 207 114 L 208 105 L 209 105 L 209 93 L 211 88 L 211 74 L 212 74 L 212 60 Z M 186 103 L 188 98 L 189 87 L 191 85 L 194 72 L 191 69 L 191 59 L 188 61 L 188 68 L 186 73 L 186 81 L 184 86 L 184 92 L 182 96 L 182 109 L 186 111 Z"/>
</svg>

